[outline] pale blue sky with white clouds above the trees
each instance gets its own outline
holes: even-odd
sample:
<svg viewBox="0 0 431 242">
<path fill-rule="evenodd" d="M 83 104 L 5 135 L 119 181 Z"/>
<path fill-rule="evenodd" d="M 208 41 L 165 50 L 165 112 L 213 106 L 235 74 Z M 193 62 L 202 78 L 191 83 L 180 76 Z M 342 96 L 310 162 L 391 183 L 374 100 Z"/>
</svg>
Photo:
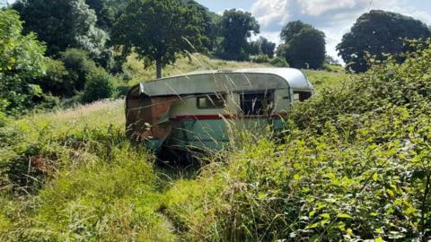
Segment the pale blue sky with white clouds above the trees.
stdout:
<svg viewBox="0 0 431 242">
<path fill-rule="evenodd" d="M 336 46 L 356 19 L 372 9 L 402 13 L 431 25 L 431 0 L 197 0 L 222 14 L 236 8 L 251 12 L 260 24 L 260 35 L 279 44 L 286 22 L 301 20 L 326 35 L 327 53 L 336 57 Z M 257 39 L 257 37 L 254 37 Z"/>
</svg>

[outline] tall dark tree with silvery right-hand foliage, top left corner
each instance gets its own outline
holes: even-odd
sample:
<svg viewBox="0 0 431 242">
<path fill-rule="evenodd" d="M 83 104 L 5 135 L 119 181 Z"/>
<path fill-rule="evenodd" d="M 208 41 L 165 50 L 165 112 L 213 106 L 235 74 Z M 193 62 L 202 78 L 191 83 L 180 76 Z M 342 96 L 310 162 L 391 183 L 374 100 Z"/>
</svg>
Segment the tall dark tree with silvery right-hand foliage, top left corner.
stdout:
<svg viewBox="0 0 431 242">
<path fill-rule="evenodd" d="M 97 58 L 105 49 L 108 36 L 96 28 L 97 17 L 84 0 L 19 0 L 13 8 L 21 14 L 24 33 L 37 33 L 49 56 L 83 48 Z"/>
</svg>

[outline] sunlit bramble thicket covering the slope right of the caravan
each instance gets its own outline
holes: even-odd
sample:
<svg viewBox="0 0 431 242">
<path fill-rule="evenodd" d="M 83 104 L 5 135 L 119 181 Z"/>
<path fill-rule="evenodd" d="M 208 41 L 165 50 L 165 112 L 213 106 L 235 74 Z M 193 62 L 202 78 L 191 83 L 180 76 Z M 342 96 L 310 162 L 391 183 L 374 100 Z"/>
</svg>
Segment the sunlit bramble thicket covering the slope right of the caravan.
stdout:
<svg viewBox="0 0 431 242">
<path fill-rule="evenodd" d="M 166 213 L 191 240 L 427 241 L 429 63 L 427 43 L 321 91 L 293 108 L 282 143 L 242 135 L 227 160 L 172 187 L 183 197 L 168 196 Z"/>
</svg>

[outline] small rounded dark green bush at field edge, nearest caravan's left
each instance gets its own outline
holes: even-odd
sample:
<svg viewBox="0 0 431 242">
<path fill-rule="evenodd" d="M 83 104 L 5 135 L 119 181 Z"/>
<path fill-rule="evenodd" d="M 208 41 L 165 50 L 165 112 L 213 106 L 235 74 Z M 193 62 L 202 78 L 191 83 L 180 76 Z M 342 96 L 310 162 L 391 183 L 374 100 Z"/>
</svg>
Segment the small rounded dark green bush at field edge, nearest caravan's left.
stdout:
<svg viewBox="0 0 431 242">
<path fill-rule="evenodd" d="M 109 99 L 117 95 L 118 90 L 114 86 L 113 77 L 109 73 L 100 68 L 87 75 L 83 102 L 89 103 L 99 99 Z"/>
</svg>

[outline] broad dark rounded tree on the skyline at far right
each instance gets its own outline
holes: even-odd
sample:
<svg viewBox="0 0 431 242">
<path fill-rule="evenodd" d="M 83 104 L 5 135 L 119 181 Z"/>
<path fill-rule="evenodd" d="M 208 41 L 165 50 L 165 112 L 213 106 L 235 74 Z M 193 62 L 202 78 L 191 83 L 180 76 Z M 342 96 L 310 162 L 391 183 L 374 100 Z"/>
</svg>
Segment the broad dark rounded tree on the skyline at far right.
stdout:
<svg viewBox="0 0 431 242">
<path fill-rule="evenodd" d="M 430 36 L 431 31 L 423 22 L 399 13 L 372 10 L 356 20 L 350 32 L 343 36 L 337 50 L 347 63 L 347 68 L 356 73 L 364 73 L 370 67 L 367 56 L 383 60 L 386 54 L 396 55 L 409 51 L 405 39 Z M 402 61 L 402 58 L 399 60 Z"/>
</svg>

